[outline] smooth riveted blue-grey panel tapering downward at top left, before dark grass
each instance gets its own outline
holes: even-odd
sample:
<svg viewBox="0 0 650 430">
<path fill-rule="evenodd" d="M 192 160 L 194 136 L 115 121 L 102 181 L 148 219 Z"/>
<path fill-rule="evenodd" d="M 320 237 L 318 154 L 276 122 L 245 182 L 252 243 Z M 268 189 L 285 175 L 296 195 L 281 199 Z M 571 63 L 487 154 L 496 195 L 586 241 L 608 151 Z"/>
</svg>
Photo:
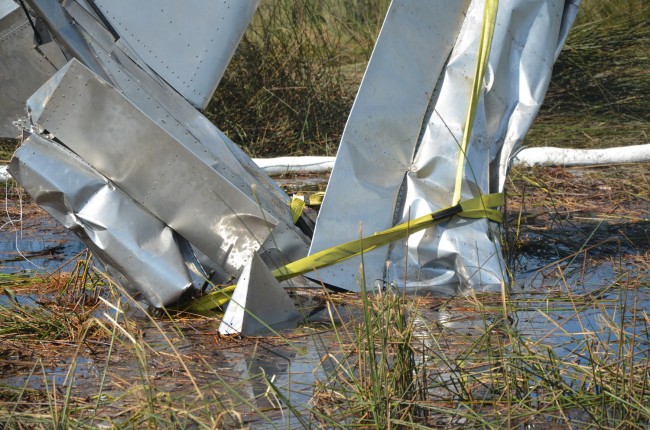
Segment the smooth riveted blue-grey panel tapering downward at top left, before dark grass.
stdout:
<svg viewBox="0 0 650 430">
<path fill-rule="evenodd" d="M 259 0 L 96 0 L 113 28 L 158 75 L 205 108 Z"/>
</svg>

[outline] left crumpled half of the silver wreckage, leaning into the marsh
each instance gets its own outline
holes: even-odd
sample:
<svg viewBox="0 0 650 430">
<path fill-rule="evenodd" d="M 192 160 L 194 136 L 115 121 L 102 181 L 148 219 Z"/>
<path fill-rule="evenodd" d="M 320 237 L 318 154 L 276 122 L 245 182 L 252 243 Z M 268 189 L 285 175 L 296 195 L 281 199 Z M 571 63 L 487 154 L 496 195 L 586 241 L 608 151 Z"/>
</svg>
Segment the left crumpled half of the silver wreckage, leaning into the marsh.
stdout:
<svg viewBox="0 0 650 430">
<path fill-rule="evenodd" d="M 120 284 L 161 307 L 237 277 L 254 252 L 271 267 L 306 255 L 308 220 L 305 234 L 289 197 L 197 110 L 256 4 L 201 2 L 203 24 L 172 1 L 137 4 L 158 15 L 128 1 L 29 4 L 36 34 L 70 60 L 47 62 L 58 70 L 27 101 L 9 172 Z M 173 41 L 160 39 L 171 20 Z"/>
</svg>

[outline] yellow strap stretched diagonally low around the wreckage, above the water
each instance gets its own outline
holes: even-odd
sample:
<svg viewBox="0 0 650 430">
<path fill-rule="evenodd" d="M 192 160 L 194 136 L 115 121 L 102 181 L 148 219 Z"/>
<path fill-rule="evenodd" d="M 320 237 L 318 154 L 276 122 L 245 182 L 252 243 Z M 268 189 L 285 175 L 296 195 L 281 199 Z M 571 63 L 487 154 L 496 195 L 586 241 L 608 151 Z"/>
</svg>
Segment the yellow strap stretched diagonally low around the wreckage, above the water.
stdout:
<svg viewBox="0 0 650 430">
<path fill-rule="evenodd" d="M 455 206 L 441 209 L 428 215 L 396 225 L 387 230 L 375 233 L 372 236 L 353 240 L 342 245 L 333 246 L 329 249 L 317 252 L 300 260 L 289 263 L 284 267 L 273 271 L 273 276 L 278 281 L 286 281 L 295 276 L 332 266 L 340 261 L 347 260 L 364 252 L 388 245 L 396 240 L 404 239 L 409 235 L 431 227 L 436 223 L 447 220 L 453 216 L 463 218 L 487 218 L 494 222 L 502 222 L 503 214 L 495 209 L 504 203 L 503 193 L 485 194 L 480 197 L 465 200 Z M 235 285 L 229 285 L 219 290 L 194 299 L 183 310 L 190 312 L 205 312 L 225 305 Z"/>
</svg>

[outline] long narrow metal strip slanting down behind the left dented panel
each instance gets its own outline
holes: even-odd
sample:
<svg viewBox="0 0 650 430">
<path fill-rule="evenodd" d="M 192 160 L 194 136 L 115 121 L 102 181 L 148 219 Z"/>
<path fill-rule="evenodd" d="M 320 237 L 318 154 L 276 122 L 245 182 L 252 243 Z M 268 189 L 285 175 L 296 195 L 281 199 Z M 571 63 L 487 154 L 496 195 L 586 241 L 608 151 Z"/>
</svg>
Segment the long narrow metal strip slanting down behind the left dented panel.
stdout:
<svg viewBox="0 0 650 430">
<path fill-rule="evenodd" d="M 147 116 L 206 163 L 228 169 L 224 177 L 228 178 L 234 186 L 242 188 L 255 184 L 258 188 L 256 200 L 260 200 L 265 207 L 273 206 L 274 211 L 288 213 L 286 205 L 288 197 L 278 185 L 214 124 L 161 79 L 134 52 L 125 38 L 120 37 L 115 40 L 85 1 L 70 0 L 65 2 L 65 8 L 56 0 L 27 0 L 27 2 L 36 13 L 45 14 L 43 19 L 49 26 L 49 30 L 68 55 L 78 59 L 94 73 L 118 88 Z M 251 4 L 238 2 L 233 7 L 248 10 Z M 241 19 L 247 16 L 247 14 L 239 15 Z M 208 21 L 220 19 L 218 15 L 209 17 L 205 13 L 202 17 Z M 245 25 L 245 22 L 242 21 L 238 25 Z M 182 29 L 177 30 L 182 31 Z M 173 33 L 167 32 L 158 36 L 159 39 L 165 39 L 165 36 L 171 34 Z M 236 38 L 238 36 L 231 35 L 227 39 Z M 229 58 L 232 55 L 230 52 L 232 46 L 228 43 L 212 44 L 210 50 L 218 52 L 218 55 L 215 55 L 220 58 Z M 214 73 L 220 75 L 222 73 L 220 70 L 225 65 L 219 64 L 215 67 Z"/>
</svg>

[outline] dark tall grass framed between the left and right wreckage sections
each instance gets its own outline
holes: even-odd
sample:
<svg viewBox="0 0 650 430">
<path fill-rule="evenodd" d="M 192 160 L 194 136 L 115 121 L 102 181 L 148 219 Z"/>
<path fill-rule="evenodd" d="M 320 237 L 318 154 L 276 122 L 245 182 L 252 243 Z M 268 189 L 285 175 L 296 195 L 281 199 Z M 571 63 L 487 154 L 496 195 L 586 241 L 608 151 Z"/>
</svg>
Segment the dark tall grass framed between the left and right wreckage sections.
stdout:
<svg viewBox="0 0 650 430">
<path fill-rule="evenodd" d="M 252 156 L 335 153 L 387 0 L 262 2 L 206 110 Z"/>
</svg>

